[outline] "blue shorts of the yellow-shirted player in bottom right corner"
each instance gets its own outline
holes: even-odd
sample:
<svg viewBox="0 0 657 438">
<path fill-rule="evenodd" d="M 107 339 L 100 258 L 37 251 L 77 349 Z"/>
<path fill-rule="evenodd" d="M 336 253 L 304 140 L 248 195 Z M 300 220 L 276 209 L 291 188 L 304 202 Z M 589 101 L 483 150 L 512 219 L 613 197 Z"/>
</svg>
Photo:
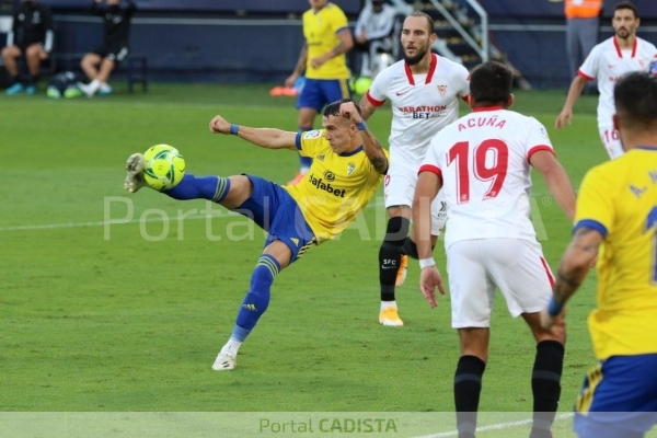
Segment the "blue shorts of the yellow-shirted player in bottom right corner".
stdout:
<svg viewBox="0 0 657 438">
<path fill-rule="evenodd" d="M 573 428 L 583 437 L 642 437 L 657 424 L 657 354 L 612 356 L 584 380 Z"/>
</svg>

